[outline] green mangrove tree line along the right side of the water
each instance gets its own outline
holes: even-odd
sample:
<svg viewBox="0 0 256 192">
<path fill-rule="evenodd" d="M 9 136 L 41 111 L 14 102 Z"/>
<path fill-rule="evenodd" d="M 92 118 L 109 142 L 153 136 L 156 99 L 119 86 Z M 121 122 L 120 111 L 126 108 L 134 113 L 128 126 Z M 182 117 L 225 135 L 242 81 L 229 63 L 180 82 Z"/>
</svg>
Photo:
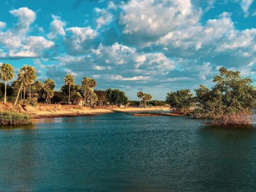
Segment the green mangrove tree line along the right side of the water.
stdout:
<svg viewBox="0 0 256 192">
<path fill-rule="evenodd" d="M 211 89 L 203 85 L 195 90 L 171 91 L 166 101 L 175 113 L 211 119 L 212 124 L 243 125 L 252 122 L 251 109 L 256 106 L 256 90 L 249 77 L 239 71 L 220 68 Z"/>
</svg>

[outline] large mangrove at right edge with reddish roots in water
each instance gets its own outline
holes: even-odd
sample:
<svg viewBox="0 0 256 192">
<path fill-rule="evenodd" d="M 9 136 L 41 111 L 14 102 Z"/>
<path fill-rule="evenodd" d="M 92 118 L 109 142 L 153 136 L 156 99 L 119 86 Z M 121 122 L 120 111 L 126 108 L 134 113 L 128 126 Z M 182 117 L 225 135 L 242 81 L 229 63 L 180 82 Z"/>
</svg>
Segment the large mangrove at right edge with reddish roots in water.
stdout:
<svg viewBox="0 0 256 192">
<path fill-rule="evenodd" d="M 214 77 L 215 86 L 211 90 L 200 86 L 195 90 L 196 118 L 210 118 L 212 124 L 241 125 L 251 123 L 251 109 L 255 106 L 256 90 L 249 77 L 240 72 L 220 68 L 220 75 Z"/>
</svg>

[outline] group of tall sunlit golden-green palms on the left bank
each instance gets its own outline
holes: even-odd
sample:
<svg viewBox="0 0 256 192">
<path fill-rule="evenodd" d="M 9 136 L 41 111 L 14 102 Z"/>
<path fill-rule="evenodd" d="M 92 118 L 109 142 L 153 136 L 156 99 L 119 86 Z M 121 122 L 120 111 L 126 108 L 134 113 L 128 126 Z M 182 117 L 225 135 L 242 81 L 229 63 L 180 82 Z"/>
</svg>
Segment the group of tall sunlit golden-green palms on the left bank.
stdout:
<svg viewBox="0 0 256 192">
<path fill-rule="evenodd" d="M 0 66 L 0 78 L 1 80 L 5 81 L 4 103 L 7 102 L 7 83 L 8 81 L 12 80 L 14 76 L 14 68 L 9 63 L 2 63 Z M 69 104 L 71 96 L 70 89 L 72 86 L 75 86 L 75 77 L 72 74 L 67 74 L 64 81 L 66 86 L 69 87 Z M 97 82 L 95 79 L 86 76 L 82 79 L 81 83 L 82 89 L 84 90 L 84 105 L 86 105 L 88 94 L 91 95 L 91 105 L 93 105 L 93 98 L 94 100 L 97 99 L 97 96 L 93 90 L 96 87 Z M 25 65 L 19 69 L 17 79 L 12 82 L 12 87 L 17 90 L 16 99 L 14 101 L 15 105 L 18 103 L 19 96 L 20 100 L 25 100 L 26 95 L 31 98 L 38 97 L 39 94 L 44 95 L 43 97 L 46 99 L 46 102 L 49 103 L 50 99 L 54 96 L 55 82 L 52 79 L 46 79 L 43 83 L 38 80 L 36 81 L 35 68 Z"/>
</svg>

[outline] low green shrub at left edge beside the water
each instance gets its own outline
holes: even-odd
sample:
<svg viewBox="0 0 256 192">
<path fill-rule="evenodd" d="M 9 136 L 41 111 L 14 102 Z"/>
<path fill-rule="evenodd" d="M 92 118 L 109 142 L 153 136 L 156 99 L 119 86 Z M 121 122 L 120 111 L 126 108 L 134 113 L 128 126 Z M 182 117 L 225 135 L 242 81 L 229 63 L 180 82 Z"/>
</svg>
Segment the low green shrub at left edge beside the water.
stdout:
<svg viewBox="0 0 256 192">
<path fill-rule="evenodd" d="M 31 116 L 13 111 L 0 112 L 0 125 L 22 125 L 31 123 Z"/>
</svg>

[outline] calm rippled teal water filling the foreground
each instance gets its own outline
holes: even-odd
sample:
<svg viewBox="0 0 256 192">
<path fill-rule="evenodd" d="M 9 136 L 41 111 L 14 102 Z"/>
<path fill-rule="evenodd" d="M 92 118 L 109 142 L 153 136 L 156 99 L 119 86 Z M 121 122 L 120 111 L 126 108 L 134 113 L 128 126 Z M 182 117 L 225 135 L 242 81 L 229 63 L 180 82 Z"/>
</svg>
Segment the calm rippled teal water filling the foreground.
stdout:
<svg viewBox="0 0 256 192">
<path fill-rule="evenodd" d="M 256 130 L 123 113 L 0 130 L 0 191 L 255 191 Z"/>
</svg>

